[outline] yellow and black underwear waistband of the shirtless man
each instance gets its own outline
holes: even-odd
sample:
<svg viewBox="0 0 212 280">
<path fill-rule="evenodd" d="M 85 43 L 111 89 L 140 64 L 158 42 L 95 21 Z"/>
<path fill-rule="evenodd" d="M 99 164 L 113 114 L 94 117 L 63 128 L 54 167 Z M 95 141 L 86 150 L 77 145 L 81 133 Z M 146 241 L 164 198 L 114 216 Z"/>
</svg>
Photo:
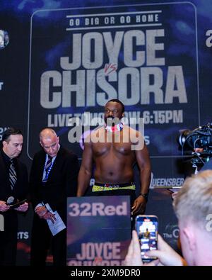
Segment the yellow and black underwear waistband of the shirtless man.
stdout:
<svg viewBox="0 0 212 280">
<path fill-rule="evenodd" d="M 102 184 L 96 183 L 93 185 L 92 191 L 112 191 L 116 189 L 132 189 L 136 190 L 136 185 L 134 182 L 129 182 L 126 184 Z"/>
</svg>

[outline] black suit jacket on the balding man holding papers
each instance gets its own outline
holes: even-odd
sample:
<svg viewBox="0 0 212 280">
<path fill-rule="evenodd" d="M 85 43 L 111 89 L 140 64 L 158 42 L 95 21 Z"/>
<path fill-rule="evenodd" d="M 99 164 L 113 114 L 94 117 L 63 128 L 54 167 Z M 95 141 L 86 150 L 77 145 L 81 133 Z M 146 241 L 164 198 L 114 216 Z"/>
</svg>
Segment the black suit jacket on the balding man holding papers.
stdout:
<svg viewBox="0 0 212 280">
<path fill-rule="evenodd" d="M 76 196 L 78 158 L 60 146 L 47 182 L 42 184 L 46 153 L 37 152 L 30 172 L 30 196 L 33 207 L 38 203 L 49 203 L 53 211 L 66 213 L 66 198 Z M 66 217 L 64 217 L 66 219 Z"/>
</svg>

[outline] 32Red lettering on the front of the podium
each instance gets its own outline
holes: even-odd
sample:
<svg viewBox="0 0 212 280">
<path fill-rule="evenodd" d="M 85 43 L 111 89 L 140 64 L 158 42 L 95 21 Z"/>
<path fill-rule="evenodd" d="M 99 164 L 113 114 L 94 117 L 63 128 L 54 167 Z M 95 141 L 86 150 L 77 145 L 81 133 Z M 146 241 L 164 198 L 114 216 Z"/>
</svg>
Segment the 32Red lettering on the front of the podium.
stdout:
<svg viewBox="0 0 212 280">
<path fill-rule="evenodd" d="M 71 203 L 69 204 L 69 215 L 76 216 L 105 216 L 105 215 L 127 215 L 127 204 L 122 202 L 118 206 L 106 205 L 105 203 Z"/>
</svg>

